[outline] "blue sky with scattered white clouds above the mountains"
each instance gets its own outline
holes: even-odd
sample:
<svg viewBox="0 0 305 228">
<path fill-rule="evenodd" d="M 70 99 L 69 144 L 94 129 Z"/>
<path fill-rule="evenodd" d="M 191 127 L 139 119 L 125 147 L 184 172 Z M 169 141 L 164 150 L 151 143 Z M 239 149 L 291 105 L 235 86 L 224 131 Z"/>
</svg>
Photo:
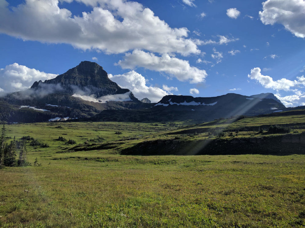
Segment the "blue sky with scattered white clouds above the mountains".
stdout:
<svg viewBox="0 0 305 228">
<path fill-rule="evenodd" d="M 303 0 L 0 0 L 0 90 L 88 60 L 153 102 L 271 92 L 305 105 L 304 12 Z"/>
</svg>

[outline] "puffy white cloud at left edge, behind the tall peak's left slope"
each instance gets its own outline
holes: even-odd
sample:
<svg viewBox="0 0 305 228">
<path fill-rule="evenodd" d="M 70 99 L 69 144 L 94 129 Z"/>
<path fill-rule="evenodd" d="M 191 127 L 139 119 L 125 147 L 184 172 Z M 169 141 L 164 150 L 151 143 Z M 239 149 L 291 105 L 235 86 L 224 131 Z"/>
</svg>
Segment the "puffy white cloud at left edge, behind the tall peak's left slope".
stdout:
<svg viewBox="0 0 305 228">
<path fill-rule="evenodd" d="M 30 88 L 35 81 L 44 81 L 56 76 L 57 74 L 41 72 L 15 62 L 5 66 L 4 69 L 0 69 L 0 92 L 22 91 Z"/>
</svg>

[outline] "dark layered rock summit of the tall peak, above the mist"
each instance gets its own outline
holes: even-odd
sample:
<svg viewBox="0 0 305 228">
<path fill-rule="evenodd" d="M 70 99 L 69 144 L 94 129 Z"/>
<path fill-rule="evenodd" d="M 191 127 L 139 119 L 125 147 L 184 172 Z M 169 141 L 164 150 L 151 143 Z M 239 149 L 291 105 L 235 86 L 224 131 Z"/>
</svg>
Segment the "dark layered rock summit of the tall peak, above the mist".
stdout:
<svg viewBox="0 0 305 228">
<path fill-rule="evenodd" d="M 61 87 L 62 91 L 58 89 L 57 93 L 67 95 L 75 93 L 81 95 L 94 94 L 97 98 L 131 92 L 129 89 L 122 89 L 117 83 L 111 81 L 102 66 L 99 66 L 96 62 L 89 61 L 81 62 L 78 66 L 69 69 L 66 73 L 58 75 L 56 78 L 45 80 L 44 82 L 36 81 L 31 86 L 31 89 L 35 90 L 47 85 Z M 137 100 L 132 94 L 131 99 Z"/>
</svg>

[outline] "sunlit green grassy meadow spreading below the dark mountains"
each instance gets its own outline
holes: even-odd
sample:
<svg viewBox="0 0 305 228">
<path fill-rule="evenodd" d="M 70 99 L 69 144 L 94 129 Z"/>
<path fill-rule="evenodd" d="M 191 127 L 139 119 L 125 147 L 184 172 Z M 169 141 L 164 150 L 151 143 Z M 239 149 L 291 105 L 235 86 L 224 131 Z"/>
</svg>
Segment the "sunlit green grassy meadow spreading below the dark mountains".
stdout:
<svg viewBox="0 0 305 228">
<path fill-rule="evenodd" d="M 304 227 L 303 154 L 120 153 L 143 141 L 209 138 L 206 133 L 190 136 L 181 132 L 208 126 L 227 129 L 229 134 L 230 129 L 245 126 L 297 123 L 291 133 L 303 132 L 302 117 L 260 118 L 265 119 L 193 126 L 115 122 L 8 125 L 8 137 L 30 135 L 49 147 L 28 145 L 28 160 L 33 164 L 37 157 L 39 167 L 0 170 L 0 227 Z M 115 134 L 117 131 L 122 134 Z M 59 136 L 77 144 L 66 145 L 56 140 Z M 245 130 L 234 137 L 260 134 Z"/>
</svg>

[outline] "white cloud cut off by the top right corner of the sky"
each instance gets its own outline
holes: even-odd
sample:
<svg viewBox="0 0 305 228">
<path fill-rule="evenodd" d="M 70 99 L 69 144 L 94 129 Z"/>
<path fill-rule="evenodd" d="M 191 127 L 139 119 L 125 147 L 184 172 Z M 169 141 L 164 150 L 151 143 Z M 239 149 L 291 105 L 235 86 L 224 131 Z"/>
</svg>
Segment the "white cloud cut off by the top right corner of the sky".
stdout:
<svg viewBox="0 0 305 228">
<path fill-rule="evenodd" d="M 296 37 L 305 37 L 304 0 L 268 0 L 262 4 L 259 16 L 265 25 L 279 23 Z"/>
</svg>

